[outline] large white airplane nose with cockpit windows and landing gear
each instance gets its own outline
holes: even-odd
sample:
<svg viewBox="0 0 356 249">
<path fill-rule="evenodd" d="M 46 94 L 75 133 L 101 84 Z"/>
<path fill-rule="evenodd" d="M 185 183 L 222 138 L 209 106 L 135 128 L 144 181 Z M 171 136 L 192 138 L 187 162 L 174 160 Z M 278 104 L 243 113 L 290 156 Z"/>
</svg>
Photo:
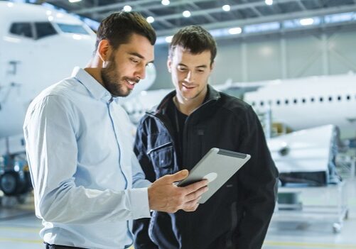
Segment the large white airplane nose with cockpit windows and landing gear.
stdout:
<svg viewBox="0 0 356 249">
<path fill-rule="evenodd" d="M 44 6 L 0 1 L 0 189 L 7 195 L 31 185 L 26 165 L 23 120 L 28 104 L 43 89 L 85 67 L 95 33 L 75 16 Z M 153 66 L 132 95 L 151 86 Z"/>
</svg>

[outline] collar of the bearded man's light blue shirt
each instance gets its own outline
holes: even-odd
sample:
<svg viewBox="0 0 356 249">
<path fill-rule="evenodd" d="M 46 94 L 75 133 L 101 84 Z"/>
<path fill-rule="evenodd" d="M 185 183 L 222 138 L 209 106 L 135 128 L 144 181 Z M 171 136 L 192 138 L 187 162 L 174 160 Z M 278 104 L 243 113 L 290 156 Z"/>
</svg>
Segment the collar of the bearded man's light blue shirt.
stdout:
<svg viewBox="0 0 356 249">
<path fill-rule="evenodd" d="M 72 72 L 72 77 L 75 77 L 80 83 L 82 83 L 87 90 L 92 94 L 95 99 L 109 101 L 112 99 L 112 94 L 105 89 L 99 82 L 97 82 L 92 75 L 80 67 L 75 67 Z"/>
</svg>

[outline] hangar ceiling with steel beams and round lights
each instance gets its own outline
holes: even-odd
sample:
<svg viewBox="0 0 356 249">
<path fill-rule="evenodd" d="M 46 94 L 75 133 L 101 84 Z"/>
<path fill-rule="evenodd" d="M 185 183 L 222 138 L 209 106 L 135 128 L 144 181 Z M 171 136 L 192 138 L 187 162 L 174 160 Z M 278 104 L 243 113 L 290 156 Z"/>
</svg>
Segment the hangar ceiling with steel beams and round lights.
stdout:
<svg viewBox="0 0 356 249">
<path fill-rule="evenodd" d="M 131 6 L 132 11 L 139 11 L 145 17 L 154 18 L 151 24 L 158 36 L 172 35 L 187 25 L 201 25 L 210 31 L 220 32 L 224 28 L 239 27 L 244 35 L 249 33 L 247 31 L 280 33 L 300 29 L 356 26 L 356 0 L 70 1 L 45 2 L 95 21 L 101 21 L 109 13 L 122 10 L 124 6 Z M 163 5 L 164 1 L 169 4 Z M 222 6 L 225 6 L 225 10 Z M 190 11 L 190 16 L 184 17 L 183 11 Z M 312 23 L 300 24 L 303 18 L 315 19 Z"/>
</svg>

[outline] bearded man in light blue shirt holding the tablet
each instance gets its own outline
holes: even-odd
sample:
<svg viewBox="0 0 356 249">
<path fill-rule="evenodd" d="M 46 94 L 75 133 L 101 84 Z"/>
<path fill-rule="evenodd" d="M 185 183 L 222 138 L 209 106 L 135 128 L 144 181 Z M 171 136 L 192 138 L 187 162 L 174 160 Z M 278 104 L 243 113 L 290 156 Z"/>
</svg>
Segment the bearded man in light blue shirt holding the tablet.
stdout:
<svg viewBox="0 0 356 249">
<path fill-rule="evenodd" d="M 141 15 L 113 13 L 99 26 L 89 65 L 29 106 L 23 131 L 46 248 L 129 248 L 132 220 L 197 209 L 207 181 L 176 187 L 187 170 L 145 180 L 117 103 L 144 79 L 155 41 Z"/>
</svg>

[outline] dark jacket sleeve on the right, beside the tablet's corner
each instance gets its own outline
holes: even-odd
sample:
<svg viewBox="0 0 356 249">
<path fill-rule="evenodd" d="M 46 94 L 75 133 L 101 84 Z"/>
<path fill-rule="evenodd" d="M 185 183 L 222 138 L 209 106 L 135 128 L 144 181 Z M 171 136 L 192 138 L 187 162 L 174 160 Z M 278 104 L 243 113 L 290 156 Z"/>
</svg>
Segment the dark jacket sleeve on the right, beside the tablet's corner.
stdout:
<svg viewBox="0 0 356 249">
<path fill-rule="evenodd" d="M 251 155 L 239 172 L 237 248 L 260 249 L 276 203 L 278 170 L 267 148 L 261 123 L 251 106 L 240 118 L 239 150 Z"/>
</svg>

